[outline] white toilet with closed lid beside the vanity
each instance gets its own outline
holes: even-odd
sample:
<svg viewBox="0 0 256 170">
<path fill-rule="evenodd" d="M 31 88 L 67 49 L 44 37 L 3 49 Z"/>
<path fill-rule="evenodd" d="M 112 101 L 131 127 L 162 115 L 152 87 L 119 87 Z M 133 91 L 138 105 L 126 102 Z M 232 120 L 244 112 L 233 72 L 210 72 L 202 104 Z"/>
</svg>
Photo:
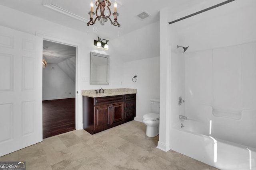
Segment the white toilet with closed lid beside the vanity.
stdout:
<svg viewBox="0 0 256 170">
<path fill-rule="evenodd" d="M 160 99 L 151 99 L 150 101 L 152 113 L 144 115 L 142 121 L 147 125 L 146 135 L 155 137 L 159 134 Z"/>
</svg>

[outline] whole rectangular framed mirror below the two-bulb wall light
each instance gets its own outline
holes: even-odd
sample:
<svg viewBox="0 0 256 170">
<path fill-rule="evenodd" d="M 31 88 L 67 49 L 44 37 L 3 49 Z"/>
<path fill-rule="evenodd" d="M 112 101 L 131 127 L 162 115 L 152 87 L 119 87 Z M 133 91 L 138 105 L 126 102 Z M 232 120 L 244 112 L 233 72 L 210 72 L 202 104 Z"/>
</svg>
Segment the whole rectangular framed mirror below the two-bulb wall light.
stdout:
<svg viewBox="0 0 256 170">
<path fill-rule="evenodd" d="M 90 53 L 90 84 L 109 84 L 109 55 Z"/>
</svg>

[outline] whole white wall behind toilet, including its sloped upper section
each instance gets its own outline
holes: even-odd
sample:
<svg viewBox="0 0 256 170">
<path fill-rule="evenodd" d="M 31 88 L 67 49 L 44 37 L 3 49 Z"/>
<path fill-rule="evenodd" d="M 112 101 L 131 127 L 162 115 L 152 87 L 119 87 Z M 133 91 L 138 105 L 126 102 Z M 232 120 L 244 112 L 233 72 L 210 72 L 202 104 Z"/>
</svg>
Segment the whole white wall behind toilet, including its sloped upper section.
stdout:
<svg viewBox="0 0 256 170">
<path fill-rule="evenodd" d="M 159 22 L 154 22 L 113 41 L 114 47 L 122 51 L 119 57 L 125 62 L 122 86 L 138 90 L 137 121 L 142 121 L 143 115 L 151 112 L 150 99 L 160 98 L 159 29 Z M 134 83 L 135 75 L 137 82 Z"/>
</svg>

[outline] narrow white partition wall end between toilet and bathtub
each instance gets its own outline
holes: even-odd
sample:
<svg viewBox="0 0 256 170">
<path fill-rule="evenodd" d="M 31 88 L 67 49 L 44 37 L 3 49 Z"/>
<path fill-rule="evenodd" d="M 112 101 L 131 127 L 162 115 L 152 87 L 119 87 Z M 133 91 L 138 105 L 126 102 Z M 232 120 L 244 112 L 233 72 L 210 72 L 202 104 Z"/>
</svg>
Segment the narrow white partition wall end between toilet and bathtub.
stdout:
<svg viewBox="0 0 256 170">
<path fill-rule="evenodd" d="M 157 148 L 170 150 L 170 39 L 168 31 L 168 8 L 160 11 L 160 124 Z"/>
</svg>

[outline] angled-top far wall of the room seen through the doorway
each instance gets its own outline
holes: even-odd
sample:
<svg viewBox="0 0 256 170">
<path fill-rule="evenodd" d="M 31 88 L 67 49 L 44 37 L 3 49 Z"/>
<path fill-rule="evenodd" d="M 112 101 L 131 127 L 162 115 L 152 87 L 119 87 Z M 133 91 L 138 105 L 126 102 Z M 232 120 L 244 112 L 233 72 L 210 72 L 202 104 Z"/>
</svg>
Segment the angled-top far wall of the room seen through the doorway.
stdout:
<svg viewBox="0 0 256 170">
<path fill-rule="evenodd" d="M 43 100 L 75 98 L 76 83 L 57 64 L 43 68 Z"/>
</svg>

